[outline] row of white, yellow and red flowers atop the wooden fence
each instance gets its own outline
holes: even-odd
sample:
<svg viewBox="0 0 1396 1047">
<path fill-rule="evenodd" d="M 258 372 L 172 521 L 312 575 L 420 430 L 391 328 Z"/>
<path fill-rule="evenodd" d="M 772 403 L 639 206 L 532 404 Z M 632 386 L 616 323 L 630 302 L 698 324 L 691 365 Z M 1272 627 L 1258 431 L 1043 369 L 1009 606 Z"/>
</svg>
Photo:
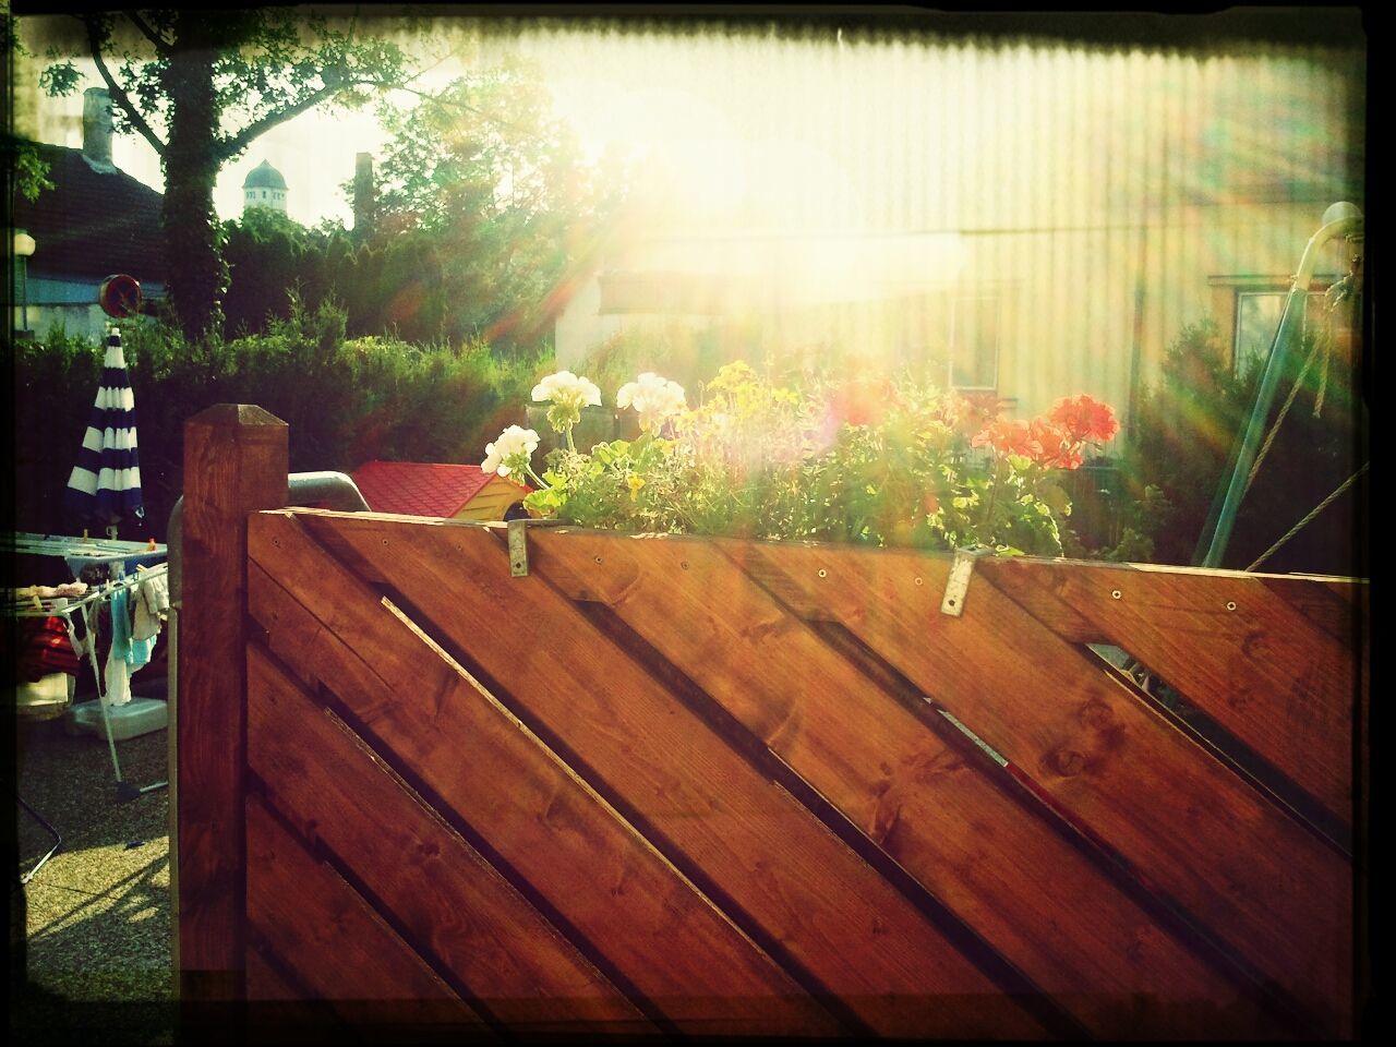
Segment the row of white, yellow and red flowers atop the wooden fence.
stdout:
<svg viewBox="0 0 1396 1047">
<path fill-rule="evenodd" d="M 600 389 L 558 371 L 533 389 L 564 445 L 533 468 L 536 430 L 510 426 L 482 468 L 526 479 L 535 517 L 620 530 L 852 542 L 1061 556 L 1071 501 L 1057 482 L 1114 438 L 1114 410 L 1087 395 L 1030 420 L 994 396 L 884 378 L 801 385 L 722 367 L 690 408 L 645 373 L 617 394 L 639 436 L 578 450 L 572 430 Z"/>
</svg>

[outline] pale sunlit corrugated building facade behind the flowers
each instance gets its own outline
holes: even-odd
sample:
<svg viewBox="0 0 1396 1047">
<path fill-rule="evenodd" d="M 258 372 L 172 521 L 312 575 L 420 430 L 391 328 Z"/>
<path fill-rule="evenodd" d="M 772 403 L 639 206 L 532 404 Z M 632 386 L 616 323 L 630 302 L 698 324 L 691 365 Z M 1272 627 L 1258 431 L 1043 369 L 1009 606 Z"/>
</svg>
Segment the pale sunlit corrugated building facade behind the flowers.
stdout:
<svg viewBox="0 0 1396 1047">
<path fill-rule="evenodd" d="M 909 369 L 993 389 L 1019 416 L 1078 392 L 1125 415 L 1185 325 L 1215 321 L 1238 369 L 1268 352 L 1325 211 L 1362 205 L 1361 54 L 981 42 L 866 59 L 831 74 L 817 114 L 772 131 L 833 158 L 836 191 L 758 207 L 757 159 L 745 212 L 642 223 L 560 315 L 558 363 L 652 335 Z M 899 85 L 891 102 L 874 77 Z M 1314 289 L 1344 271 L 1330 244 Z"/>
</svg>

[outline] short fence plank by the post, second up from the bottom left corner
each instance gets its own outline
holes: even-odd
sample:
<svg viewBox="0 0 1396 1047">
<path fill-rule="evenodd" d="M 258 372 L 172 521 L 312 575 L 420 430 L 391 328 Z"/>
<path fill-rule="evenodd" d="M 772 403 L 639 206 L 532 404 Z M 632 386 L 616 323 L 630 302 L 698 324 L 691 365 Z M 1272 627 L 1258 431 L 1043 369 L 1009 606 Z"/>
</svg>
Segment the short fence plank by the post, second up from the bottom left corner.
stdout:
<svg viewBox="0 0 1396 1047">
<path fill-rule="evenodd" d="M 247 797 L 247 920 L 317 998 L 336 1011 L 349 1004 L 346 1018 L 484 1032 L 479 1015 L 255 796 Z"/>
</svg>

